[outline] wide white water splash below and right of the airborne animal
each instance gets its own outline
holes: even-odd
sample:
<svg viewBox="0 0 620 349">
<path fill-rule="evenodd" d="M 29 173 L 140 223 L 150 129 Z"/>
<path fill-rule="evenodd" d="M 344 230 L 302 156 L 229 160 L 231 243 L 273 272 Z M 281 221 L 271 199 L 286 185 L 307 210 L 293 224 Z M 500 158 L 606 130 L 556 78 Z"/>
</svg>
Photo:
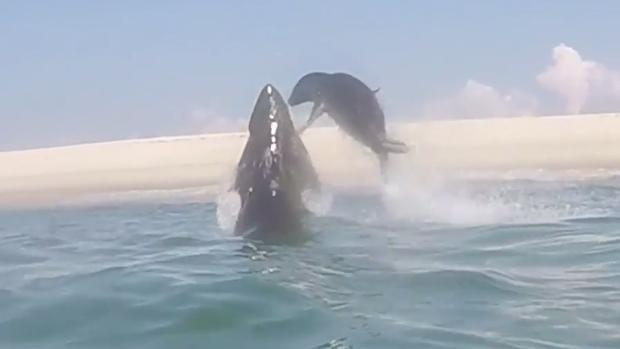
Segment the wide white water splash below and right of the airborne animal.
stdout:
<svg viewBox="0 0 620 349">
<path fill-rule="evenodd" d="M 550 181 L 548 173 L 540 180 L 531 175 L 523 180 L 473 180 L 413 166 L 393 168 L 390 182 L 381 188 L 382 200 L 394 218 L 452 225 L 535 224 L 609 214 L 609 207 L 584 202 L 602 195 L 593 191 L 595 183 L 586 192 L 574 181 Z M 613 182 L 606 183 L 609 193 Z"/>
</svg>

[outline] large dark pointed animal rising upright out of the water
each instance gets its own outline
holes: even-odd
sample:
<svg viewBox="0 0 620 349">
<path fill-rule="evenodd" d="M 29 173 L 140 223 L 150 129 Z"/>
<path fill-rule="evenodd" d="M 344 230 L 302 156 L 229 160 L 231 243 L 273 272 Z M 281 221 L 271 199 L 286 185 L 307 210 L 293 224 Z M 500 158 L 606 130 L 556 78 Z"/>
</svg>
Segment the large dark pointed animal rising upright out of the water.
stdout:
<svg viewBox="0 0 620 349">
<path fill-rule="evenodd" d="M 234 182 L 241 198 L 235 234 L 279 238 L 300 231 L 309 212 L 302 193 L 320 190 L 320 182 L 288 106 L 272 85 L 261 90 L 248 129 Z"/>
</svg>

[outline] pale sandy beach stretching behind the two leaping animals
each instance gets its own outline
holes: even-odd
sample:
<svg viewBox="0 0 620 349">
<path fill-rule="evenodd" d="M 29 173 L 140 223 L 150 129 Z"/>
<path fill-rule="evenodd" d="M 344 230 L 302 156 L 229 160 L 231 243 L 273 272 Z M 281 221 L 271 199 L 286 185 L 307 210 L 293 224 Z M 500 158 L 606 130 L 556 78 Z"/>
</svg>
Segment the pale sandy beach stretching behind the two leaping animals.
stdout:
<svg viewBox="0 0 620 349">
<path fill-rule="evenodd" d="M 620 169 L 620 114 L 424 121 L 391 124 L 389 133 L 414 147 L 392 156 L 400 170 Z M 216 193 L 245 140 L 245 133 L 226 133 L 0 152 L 0 203 L 190 187 Z M 313 128 L 303 140 L 326 185 L 378 185 L 374 156 L 338 129 Z"/>
</svg>

